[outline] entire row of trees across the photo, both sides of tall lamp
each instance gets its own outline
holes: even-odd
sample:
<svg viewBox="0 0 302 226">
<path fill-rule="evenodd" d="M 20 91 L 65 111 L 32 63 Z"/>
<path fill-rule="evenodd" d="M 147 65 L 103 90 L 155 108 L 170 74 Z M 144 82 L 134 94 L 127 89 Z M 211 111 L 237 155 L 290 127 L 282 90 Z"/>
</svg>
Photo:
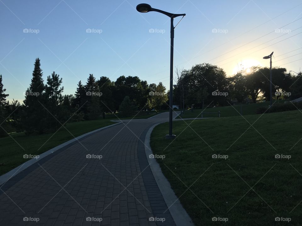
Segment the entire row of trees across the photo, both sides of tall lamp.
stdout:
<svg viewBox="0 0 302 226">
<path fill-rule="evenodd" d="M 0 121 L 3 122 L 0 136 L 7 136 L 8 130 L 26 134 L 53 132 L 67 121 L 95 120 L 105 113 L 118 112 L 118 117 L 127 117 L 141 110 L 169 108 L 170 91 L 166 92 L 161 82 L 148 84 L 137 76 L 124 75 L 114 82 L 105 76 L 96 79 L 89 74 L 86 83 L 79 81 L 74 95 L 63 95 L 62 78 L 58 74 L 53 72 L 46 81 L 42 75 L 37 58 L 23 104 L 18 100 L 11 103 L 6 100 L 8 94 L 0 75 Z M 293 100 L 302 96 L 301 73 L 292 75 L 286 68 L 275 67 L 272 75 L 274 100 Z M 176 68 L 175 77 L 173 104 L 183 103 L 185 109 L 270 99 L 270 70 L 267 67 L 252 67 L 249 73 L 240 71 L 227 77 L 222 68 L 204 63 L 188 70 Z"/>
</svg>

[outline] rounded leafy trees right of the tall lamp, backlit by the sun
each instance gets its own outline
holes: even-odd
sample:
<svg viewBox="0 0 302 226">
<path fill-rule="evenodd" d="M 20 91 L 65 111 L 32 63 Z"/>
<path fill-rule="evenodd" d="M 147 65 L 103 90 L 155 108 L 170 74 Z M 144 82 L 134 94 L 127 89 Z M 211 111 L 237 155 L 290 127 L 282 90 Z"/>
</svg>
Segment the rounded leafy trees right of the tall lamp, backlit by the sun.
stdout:
<svg viewBox="0 0 302 226">
<path fill-rule="evenodd" d="M 293 75 L 286 68 L 272 68 L 273 100 L 302 97 L 302 74 Z M 256 103 L 270 100 L 270 69 L 251 67 L 227 77 L 224 70 L 209 63 L 197 64 L 189 70 L 176 68 L 173 102 L 185 108 Z"/>
</svg>

